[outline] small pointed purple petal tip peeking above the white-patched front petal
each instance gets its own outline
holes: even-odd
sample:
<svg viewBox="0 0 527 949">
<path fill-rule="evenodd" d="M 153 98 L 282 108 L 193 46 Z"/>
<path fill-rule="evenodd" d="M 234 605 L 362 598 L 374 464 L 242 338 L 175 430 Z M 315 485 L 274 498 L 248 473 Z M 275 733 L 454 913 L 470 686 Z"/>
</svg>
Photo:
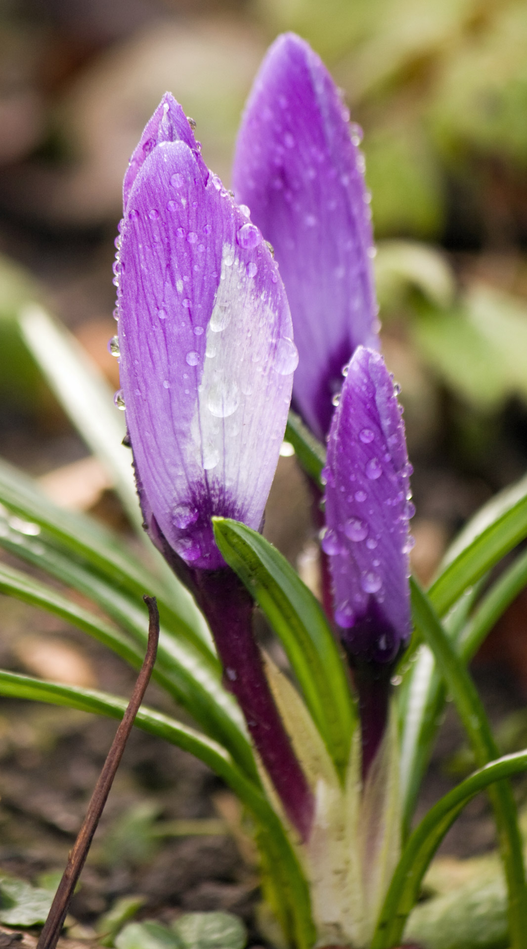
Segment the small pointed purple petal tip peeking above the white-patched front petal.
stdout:
<svg viewBox="0 0 527 949">
<path fill-rule="evenodd" d="M 207 177 L 207 166 L 199 155 L 198 142 L 194 138 L 190 123 L 179 102 L 176 102 L 170 92 L 165 92 L 154 115 L 146 122 L 139 145 L 128 162 L 122 182 L 122 207 L 124 211 L 126 211 L 132 185 L 147 155 L 150 155 L 150 152 L 161 141 L 178 140 L 184 141 L 192 149 L 196 155 L 201 173 L 204 177 Z"/>
</svg>

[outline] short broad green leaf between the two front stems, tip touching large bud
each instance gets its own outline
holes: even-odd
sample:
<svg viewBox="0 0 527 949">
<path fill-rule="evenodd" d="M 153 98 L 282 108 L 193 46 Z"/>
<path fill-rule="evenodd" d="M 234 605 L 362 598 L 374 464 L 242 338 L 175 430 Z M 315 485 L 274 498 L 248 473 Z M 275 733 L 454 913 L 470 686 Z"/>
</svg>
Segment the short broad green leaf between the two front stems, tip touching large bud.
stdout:
<svg viewBox="0 0 527 949">
<path fill-rule="evenodd" d="M 280 638 L 337 773 L 344 777 L 357 714 L 322 607 L 259 533 L 227 518 L 213 520 L 218 548 Z"/>
</svg>

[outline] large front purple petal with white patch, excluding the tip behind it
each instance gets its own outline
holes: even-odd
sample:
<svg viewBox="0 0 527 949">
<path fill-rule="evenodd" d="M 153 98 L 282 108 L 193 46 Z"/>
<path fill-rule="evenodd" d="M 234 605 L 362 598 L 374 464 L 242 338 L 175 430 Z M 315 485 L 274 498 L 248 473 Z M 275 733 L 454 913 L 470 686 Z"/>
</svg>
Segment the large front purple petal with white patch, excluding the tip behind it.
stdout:
<svg viewBox="0 0 527 949">
<path fill-rule="evenodd" d="M 213 514 L 260 527 L 287 420 L 287 298 L 261 234 L 162 140 L 132 185 L 118 262 L 122 399 L 146 519 L 193 568 L 223 560 Z"/>
</svg>

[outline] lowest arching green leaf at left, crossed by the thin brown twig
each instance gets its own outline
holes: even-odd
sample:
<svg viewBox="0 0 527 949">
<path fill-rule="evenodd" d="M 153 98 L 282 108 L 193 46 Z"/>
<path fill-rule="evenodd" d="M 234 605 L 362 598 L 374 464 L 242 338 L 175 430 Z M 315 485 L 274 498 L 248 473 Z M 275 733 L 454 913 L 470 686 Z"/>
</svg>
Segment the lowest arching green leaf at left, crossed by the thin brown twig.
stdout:
<svg viewBox="0 0 527 949">
<path fill-rule="evenodd" d="M 103 692 L 19 676 L 4 670 L 0 670 L 0 695 L 65 705 L 111 718 L 122 718 L 127 706 L 125 699 Z M 143 731 L 158 735 L 183 751 L 194 754 L 235 791 L 252 813 L 259 828 L 259 840 L 280 871 L 284 902 L 289 907 L 297 945 L 299 949 L 310 949 L 315 932 L 311 921 L 308 884 L 285 830 L 262 791 L 235 765 L 221 745 L 175 718 L 142 706 L 135 723 Z"/>
</svg>

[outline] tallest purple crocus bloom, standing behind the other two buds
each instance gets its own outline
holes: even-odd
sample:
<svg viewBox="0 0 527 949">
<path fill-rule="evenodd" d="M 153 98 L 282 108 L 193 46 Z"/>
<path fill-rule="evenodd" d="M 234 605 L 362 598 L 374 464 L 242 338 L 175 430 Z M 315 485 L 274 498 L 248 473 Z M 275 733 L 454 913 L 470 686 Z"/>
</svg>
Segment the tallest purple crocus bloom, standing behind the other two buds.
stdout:
<svg viewBox="0 0 527 949">
<path fill-rule="evenodd" d="M 287 290 L 300 357 L 293 404 L 321 439 L 343 365 L 357 345 L 379 347 L 364 158 L 348 119 L 325 65 L 286 33 L 254 82 L 233 172 Z"/>
</svg>

